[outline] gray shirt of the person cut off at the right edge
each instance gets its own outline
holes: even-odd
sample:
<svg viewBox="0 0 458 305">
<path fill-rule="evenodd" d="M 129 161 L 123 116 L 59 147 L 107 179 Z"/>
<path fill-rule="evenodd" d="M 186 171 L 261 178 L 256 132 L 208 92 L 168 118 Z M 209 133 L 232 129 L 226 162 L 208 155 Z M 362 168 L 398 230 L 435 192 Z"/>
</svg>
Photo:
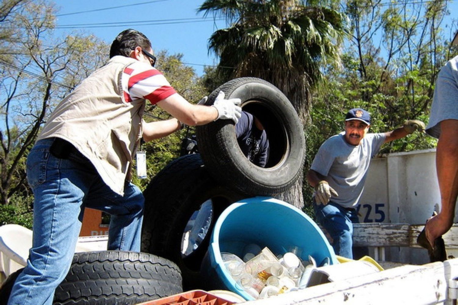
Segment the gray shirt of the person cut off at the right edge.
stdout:
<svg viewBox="0 0 458 305">
<path fill-rule="evenodd" d="M 439 138 L 439 123 L 447 119 L 458 120 L 458 56 L 450 59 L 437 75 L 426 133 Z"/>
</svg>

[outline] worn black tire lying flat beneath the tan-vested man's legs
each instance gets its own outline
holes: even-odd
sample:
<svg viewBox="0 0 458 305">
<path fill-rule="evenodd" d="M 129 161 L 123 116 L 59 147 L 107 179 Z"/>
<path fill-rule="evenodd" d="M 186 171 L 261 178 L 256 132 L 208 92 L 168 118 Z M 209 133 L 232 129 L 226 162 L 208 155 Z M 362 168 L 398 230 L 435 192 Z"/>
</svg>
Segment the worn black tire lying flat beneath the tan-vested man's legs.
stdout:
<svg viewBox="0 0 458 305">
<path fill-rule="evenodd" d="M 21 271 L 1 287 L 1 305 Z M 73 257 L 53 305 L 133 305 L 181 292 L 180 269 L 167 259 L 130 251 L 82 252 Z"/>
</svg>

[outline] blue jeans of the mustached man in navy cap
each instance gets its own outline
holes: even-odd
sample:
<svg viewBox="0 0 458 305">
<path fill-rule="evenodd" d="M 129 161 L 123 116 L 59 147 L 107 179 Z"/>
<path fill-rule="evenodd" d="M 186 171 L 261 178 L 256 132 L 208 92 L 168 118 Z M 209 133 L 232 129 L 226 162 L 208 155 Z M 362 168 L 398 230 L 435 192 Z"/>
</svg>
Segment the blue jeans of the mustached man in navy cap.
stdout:
<svg viewBox="0 0 458 305">
<path fill-rule="evenodd" d="M 316 219 L 333 239 L 336 255 L 350 259 L 367 255 L 367 248 L 353 249 L 353 224 L 360 223 L 356 209 L 345 209 L 333 202 L 313 206 Z"/>
</svg>

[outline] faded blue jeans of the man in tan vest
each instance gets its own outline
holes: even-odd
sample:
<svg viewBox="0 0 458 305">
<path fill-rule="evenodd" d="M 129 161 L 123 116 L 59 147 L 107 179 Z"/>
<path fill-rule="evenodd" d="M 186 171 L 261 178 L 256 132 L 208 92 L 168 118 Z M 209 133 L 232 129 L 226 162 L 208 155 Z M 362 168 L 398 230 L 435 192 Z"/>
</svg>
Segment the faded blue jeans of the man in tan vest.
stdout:
<svg viewBox="0 0 458 305">
<path fill-rule="evenodd" d="M 71 266 L 84 207 L 111 214 L 109 250 L 140 251 L 140 189 L 126 182 L 124 196 L 114 193 L 78 151 L 66 159 L 52 155 L 53 141 L 38 141 L 27 158 L 27 180 L 35 196 L 33 246 L 8 305 L 52 304 L 55 288 Z"/>
</svg>

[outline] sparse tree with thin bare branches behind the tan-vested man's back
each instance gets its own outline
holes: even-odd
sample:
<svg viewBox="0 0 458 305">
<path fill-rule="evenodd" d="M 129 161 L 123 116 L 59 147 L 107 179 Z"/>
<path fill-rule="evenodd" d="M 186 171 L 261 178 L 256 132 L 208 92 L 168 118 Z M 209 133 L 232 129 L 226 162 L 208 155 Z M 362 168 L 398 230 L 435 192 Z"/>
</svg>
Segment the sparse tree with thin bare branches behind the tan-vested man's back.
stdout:
<svg viewBox="0 0 458 305">
<path fill-rule="evenodd" d="M 33 201 L 25 178 L 28 151 L 60 99 L 108 59 L 108 46 L 83 33 L 56 38 L 55 8 L 47 1 L 2 5 L 9 13 L 0 21 L 0 221 L 27 225 Z M 24 211 L 29 220 L 19 217 Z"/>
</svg>

